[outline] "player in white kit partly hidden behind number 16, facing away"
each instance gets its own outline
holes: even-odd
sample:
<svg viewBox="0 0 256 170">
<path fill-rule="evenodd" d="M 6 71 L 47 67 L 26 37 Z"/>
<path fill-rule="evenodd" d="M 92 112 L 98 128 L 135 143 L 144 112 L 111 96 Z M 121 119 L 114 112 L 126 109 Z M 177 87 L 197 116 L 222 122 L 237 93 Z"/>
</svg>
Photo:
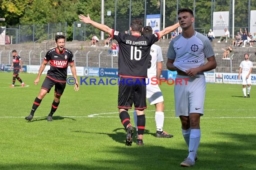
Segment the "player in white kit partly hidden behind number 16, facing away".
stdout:
<svg viewBox="0 0 256 170">
<path fill-rule="evenodd" d="M 150 35 L 153 34 L 151 26 L 145 26 L 141 35 Z M 155 123 L 156 123 L 156 137 L 172 137 L 173 135 L 168 134 L 163 131 L 163 94 L 159 85 L 155 83 L 156 80 L 159 80 L 162 72 L 163 65 L 163 55 L 161 47 L 153 44 L 150 50 L 150 61 L 148 65 L 147 75 L 149 82 L 146 82 L 146 98 L 148 99 L 150 105 L 155 105 Z M 154 80 L 151 81 L 151 78 L 154 77 Z M 137 128 L 137 113 L 136 110 L 133 111 L 134 124 Z"/>
</svg>

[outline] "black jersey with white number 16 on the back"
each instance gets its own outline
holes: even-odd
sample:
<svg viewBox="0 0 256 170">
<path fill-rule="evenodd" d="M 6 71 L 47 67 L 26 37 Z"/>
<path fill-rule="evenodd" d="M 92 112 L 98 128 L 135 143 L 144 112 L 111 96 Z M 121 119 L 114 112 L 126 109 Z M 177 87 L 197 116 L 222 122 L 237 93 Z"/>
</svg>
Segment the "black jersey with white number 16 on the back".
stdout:
<svg viewBox="0 0 256 170">
<path fill-rule="evenodd" d="M 119 44 L 118 75 L 147 77 L 150 47 L 158 41 L 159 34 L 134 36 L 112 30 L 112 38 Z"/>
</svg>

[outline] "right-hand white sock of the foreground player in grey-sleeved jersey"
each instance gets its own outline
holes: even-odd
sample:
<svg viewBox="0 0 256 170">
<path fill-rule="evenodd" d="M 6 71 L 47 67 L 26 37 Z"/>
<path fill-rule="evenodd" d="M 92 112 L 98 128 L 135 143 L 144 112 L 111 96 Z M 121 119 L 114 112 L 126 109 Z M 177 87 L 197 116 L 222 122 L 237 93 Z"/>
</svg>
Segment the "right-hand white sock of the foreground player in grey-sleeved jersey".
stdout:
<svg viewBox="0 0 256 170">
<path fill-rule="evenodd" d="M 189 145 L 189 156 L 192 161 L 194 161 L 195 154 L 197 153 L 199 143 L 201 138 L 200 129 L 191 129 L 190 132 L 190 145 Z"/>
</svg>

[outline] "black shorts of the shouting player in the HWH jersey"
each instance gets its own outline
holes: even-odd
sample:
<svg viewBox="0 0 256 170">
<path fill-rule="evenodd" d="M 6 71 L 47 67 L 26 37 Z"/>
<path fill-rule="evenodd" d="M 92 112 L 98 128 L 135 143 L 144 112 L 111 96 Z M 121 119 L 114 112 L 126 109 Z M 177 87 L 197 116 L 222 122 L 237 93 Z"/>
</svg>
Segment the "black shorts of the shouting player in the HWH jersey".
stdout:
<svg viewBox="0 0 256 170">
<path fill-rule="evenodd" d="M 45 77 L 41 89 L 45 89 L 47 90 L 47 93 L 49 93 L 53 85 L 55 85 L 54 92 L 57 94 L 57 96 L 61 96 L 66 87 L 66 82 L 65 83 L 57 82 L 50 79 L 49 77 Z"/>
</svg>

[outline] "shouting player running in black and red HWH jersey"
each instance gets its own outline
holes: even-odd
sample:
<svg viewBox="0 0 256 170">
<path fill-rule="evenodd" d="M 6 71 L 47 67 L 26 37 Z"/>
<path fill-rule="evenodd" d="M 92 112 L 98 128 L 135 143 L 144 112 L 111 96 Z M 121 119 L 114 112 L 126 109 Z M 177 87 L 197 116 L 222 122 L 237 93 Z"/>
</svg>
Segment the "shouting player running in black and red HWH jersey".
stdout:
<svg viewBox="0 0 256 170">
<path fill-rule="evenodd" d="M 26 120 L 33 119 L 35 110 L 38 108 L 38 106 L 40 106 L 42 99 L 44 98 L 46 93 L 50 92 L 53 85 L 55 85 L 54 100 L 53 100 L 52 108 L 49 115 L 47 116 L 48 121 L 53 120 L 52 119 L 53 113 L 57 110 L 58 105 L 60 103 L 60 98 L 66 87 L 68 63 L 70 64 L 71 72 L 73 74 L 73 77 L 75 78 L 74 89 L 75 91 L 79 90 L 73 54 L 71 51 L 64 48 L 65 39 L 66 37 L 64 35 L 55 35 L 55 43 L 57 47 L 49 50 L 44 57 L 44 61 L 40 66 L 40 69 L 39 69 L 37 78 L 34 81 L 34 84 L 35 85 L 38 84 L 40 80 L 40 76 L 44 71 L 44 68 L 48 62 L 50 62 L 50 69 L 47 72 L 47 75 L 44 79 L 44 82 L 42 84 L 42 87 L 40 89 L 38 96 L 35 98 L 30 115 L 25 117 Z"/>
</svg>

